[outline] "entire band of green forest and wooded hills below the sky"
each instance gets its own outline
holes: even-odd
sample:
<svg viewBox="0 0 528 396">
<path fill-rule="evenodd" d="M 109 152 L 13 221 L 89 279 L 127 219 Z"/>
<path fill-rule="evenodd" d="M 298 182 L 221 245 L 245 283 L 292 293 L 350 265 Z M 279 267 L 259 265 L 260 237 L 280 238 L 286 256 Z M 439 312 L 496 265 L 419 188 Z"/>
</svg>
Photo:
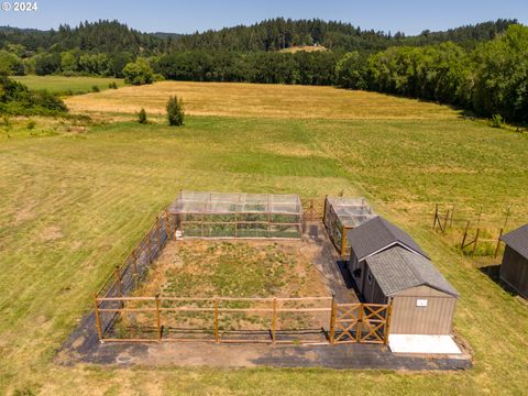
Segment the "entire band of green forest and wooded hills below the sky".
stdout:
<svg viewBox="0 0 528 396">
<path fill-rule="evenodd" d="M 320 51 L 280 50 L 315 46 Z M 342 22 L 274 19 L 194 34 L 118 21 L 57 31 L 0 28 L 0 73 L 337 85 L 528 122 L 528 28 L 497 20 L 416 36 Z"/>
</svg>

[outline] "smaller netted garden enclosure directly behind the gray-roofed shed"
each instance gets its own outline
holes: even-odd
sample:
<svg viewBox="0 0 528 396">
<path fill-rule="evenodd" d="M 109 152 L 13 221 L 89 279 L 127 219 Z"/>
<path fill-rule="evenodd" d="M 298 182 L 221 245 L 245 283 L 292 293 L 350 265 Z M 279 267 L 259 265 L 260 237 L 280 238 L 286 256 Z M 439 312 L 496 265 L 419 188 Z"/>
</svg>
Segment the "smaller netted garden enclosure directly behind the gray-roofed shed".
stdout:
<svg viewBox="0 0 528 396">
<path fill-rule="evenodd" d="M 365 198 L 324 199 L 323 222 L 330 239 L 343 256 L 350 252 L 349 231 L 376 216 Z"/>
</svg>

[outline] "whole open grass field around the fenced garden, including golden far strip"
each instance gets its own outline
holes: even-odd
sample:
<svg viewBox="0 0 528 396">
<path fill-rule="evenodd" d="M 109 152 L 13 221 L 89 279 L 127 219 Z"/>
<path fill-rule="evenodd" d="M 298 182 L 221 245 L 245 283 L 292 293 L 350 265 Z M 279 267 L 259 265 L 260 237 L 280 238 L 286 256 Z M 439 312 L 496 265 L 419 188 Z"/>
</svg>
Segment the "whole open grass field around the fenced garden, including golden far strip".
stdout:
<svg viewBox="0 0 528 396">
<path fill-rule="evenodd" d="M 513 204 L 513 221 L 526 222 L 526 134 L 463 120 L 430 103 L 333 88 L 163 82 L 75 97 L 68 105 L 86 100 L 85 110 L 75 109 L 102 112 L 118 92 L 125 98 L 133 92 L 130 111 L 161 108 L 169 92 L 183 95 L 189 112 L 202 116 L 188 117 L 183 129 L 114 122 L 0 141 L 0 394 L 526 392 L 526 301 L 430 229 L 439 200 L 474 210 Z M 252 117 L 261 110 L 265 117 Z M 405 373 L 55 364 L 56 349 L 91 309 L 91 292 L 180 188 L 366 196 L 378 212 L 416 237 L 461 293 L 454 327 L 475 351 L 474 369 Z"/>
</svg>

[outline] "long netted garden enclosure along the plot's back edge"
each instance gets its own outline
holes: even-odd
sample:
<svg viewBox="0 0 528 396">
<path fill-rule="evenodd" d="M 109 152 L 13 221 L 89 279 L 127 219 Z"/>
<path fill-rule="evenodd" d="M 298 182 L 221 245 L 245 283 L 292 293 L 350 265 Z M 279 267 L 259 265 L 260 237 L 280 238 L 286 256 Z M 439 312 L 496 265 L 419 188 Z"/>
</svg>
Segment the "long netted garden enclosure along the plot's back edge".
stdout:
<svg viewBox="0 0 528 396">
<path fill-rule="evenodd" d="M 302 229 L 297 195 L 182 191 L 168 211 L 184 238 L 300 238 Z"/>
</svg>

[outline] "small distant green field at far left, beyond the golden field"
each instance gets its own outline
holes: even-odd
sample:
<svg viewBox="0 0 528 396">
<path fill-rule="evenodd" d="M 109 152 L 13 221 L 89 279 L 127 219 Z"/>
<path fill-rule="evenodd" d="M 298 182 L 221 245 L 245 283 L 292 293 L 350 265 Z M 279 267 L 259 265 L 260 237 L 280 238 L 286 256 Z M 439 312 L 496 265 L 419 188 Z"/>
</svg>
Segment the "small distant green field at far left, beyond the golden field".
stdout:
<svg viewBox="0 0 528 396">
<path fill-rule="evenodd" d="M 92 87 L 97 86 L 100 90 L 108 89 L 110 82 L 116 82 L 122 87 L 123 80 L 120 78 L 106 77 L 64 77 L 64 76 L 13 76 L 14 80 L 22 82 L 31 89 L 46 89 L 51 92 L 72 92 L 86 94 L 91 92 Z"/>
</svg>

